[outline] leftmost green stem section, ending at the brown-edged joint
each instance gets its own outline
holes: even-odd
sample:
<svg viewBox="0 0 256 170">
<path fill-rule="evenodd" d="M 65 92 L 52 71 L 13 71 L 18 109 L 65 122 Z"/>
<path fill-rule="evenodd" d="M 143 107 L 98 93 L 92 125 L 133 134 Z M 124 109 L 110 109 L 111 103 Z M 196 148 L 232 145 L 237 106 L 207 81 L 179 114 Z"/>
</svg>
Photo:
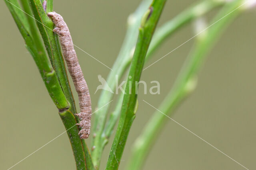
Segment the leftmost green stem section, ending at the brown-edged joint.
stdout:
<svg viewBox="0 0 256 170">
<path fill-rule="evenodd" d="M 39 53 L 37 50 L 32 35 L 27 30 L 29 29 L 28 26 L 24 26 L 24 22 L 28 23 L 28 21 L 25 21 L 26 17 L 19 15 L 18 13 L 17 9 L 20 8 L 18 2 L 16 0 L 4 1 L 6 2 L 6 6 L 10 10 L 22 37 L 24 38 L 26 48 L 36 62 L 50 97 L 58 109 L 65 109 L 68 106 L 68 101 L 66 100 L 60 85 L 58 84 L 56 72 L 52 69 L 52 66 L 48 62 L 47 56 L 43 53 Z"/>
</svg>

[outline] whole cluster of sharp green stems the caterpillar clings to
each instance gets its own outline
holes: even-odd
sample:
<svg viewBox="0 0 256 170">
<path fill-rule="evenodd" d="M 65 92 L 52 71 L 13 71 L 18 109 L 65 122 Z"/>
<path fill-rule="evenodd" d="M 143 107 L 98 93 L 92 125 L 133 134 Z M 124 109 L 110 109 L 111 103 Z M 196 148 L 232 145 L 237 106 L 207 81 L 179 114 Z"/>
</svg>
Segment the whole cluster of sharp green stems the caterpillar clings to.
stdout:
<svg viewBox="0 0 256 170">
<path fill-rule="evenodd" d="M 10 2 L 11 3 L 13 2 L 13 3 L 10 4 L 9 2 L 6 2 L 6 4 L 12 16 L 14 17 L 14 20 L 22 36 L 24 37 L 28 51 L 30 51 L 31 55 L 36 61 L 38 69 L 40 70 L 40 73 L 45 82 L 46 88 L 48 89 L 48 92 L 52 100 L 60 110 L 59 115 L 64 123 L 64 126 L 67 130 L 70 127 L 72 127 L 72 129 L 70 129 L 67 133 L 68 133 L 68 137 L 70 138 L 70 143 L 72 145 L 72 149 L 74 152 L 77 169 L 81 169 L 81 170 L 94 169 L 94 166 L 92 164 L 92 160 L 90 157 L 90 153 L 88 151 L 88 147 L 86 146 L 86 143 L 84 142 L 84 140 L 81 140 L 78 136 L 79 128 L 76 125 L 76 123 L 78 122 L 77 121 L 78 119 L 74 117 L 74 115 L 72 114 L 72 113 L 76 113 L 76 108 L 74 107 L 74 99 L 68 83 L 66 68 L 61 55 L 61 49 L 60 49 L 60 46 L 58 46 L 57 44 L 58 39 L 56 39 L 56 36 L 54 35 L 54 33 L 50 34 L 50 31 L 49 32 L 46 31 L 46 29 L 48 28 L 44 29 L 44 27 L 42 27 L 43 20 L 47 20 L 49 22 L 52 22 L 52 21 L 48 18 L 48 16 L 46 16 L 47 18 L 46 17 L 45 18 L 42 17 L 43 19 L 41 18 L 42 14 L 43 15 L 46 15 L 46 14 L 44 13 L 44 11 L 42 11 L 42 4 L 40 1 L 36 1 L 36 2 L 30 1 L 32 5 L 32 10 L 34 12 L 34 16 L 36 17 L 36 20 L 39 21 L 39 22 L 37 21 L 37 24 L 40 29 L 40 33 L 42 34 L 43 40 L 46 44 L 46 47 L 47 47 L 46 49 L 48 50 L 48 54 L 49 56 L 54 54 L 52 55 L 52 63 L 55 62 L 54 66 L 55 66 L 55 69 L 58 70 L 58 72 L 55 72 L 55 70 L 52 68 L 51 64 L 47 59 L 46 53 L 44 51 L 44 47 L 42 46 L 42 40 L 39 37 L 37 28 L 35 27 L 35 21 L 31 20 L 32 15 L 31 15 L 31 10 L 29 8 L 28 2 L 23 0 L 22 6 L 24 7 L 25 12 L 28 15 L 30 15 L 29 16 L 30 18 L 28 17 L 26 18 L 22 16 L 21 14 L 23 13 L 18 13 L 21 10 L 18 9 L 20 7 L 18 6 L 18 2 L 16 0 L 11 0 Z M 52 5 L 49 2 L 52 3 L 52 1 L 48 0 L 48 9 L 51 10 Z M 17 8 L 13 6 L 13 4 L 15 4 Z M 17 15 L 16 12 L 19 15 Z M 27 20 L 26 22 L 24 21 L 25 19 Z M 28 23 L 29 27 L 28 26 L 25 27 L 23 22 Z M 45 25 L 46 27 L 49 26 L 49 25 L 47 26 L 46 23 Z M 32 33 L 30 34 L 26 29 L 31 30 Z M 49 36 L 50 38 L 48 37 L 48 35 L 50 35 Z M 59 80 L 61 80 L 60 82 L 62 82 L 62 86 L 60 86 L 58 78 Z"/>
</svg>

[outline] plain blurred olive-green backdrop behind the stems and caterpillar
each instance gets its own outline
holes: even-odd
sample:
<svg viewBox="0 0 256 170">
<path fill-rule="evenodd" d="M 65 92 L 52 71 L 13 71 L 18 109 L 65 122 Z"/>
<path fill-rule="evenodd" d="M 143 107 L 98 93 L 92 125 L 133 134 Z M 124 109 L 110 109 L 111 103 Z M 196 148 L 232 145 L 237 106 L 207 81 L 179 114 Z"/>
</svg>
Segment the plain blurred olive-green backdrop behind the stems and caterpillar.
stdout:
<svg viewBox="0 0 256 170">
<path fill-rule="evenodd" d="M 194 2 L 197 1 L 168 0 L 158 25 Z M 138 0 L 54 0 L 54 11 L 61 14 L 68 24 L 75 45 L 111 67 L 126 32 L 126 19 L 138 4 Z M 208 16 L 214 14 L 212 12 Z M 172 115 L 174 120 L 249 169 L 256 169 L 255 16 L 255 9 L 245 12 L 224 32 L 201 69 L 195 92 Z M 65 129 L 3 0 L 0 1 L 0 20 L 0 169 L 8 169 Z M 192 25 L 182 28 L 168 39 L 145 66 L 195 35 Z M 124 169 L 132 143 L 155 111 L 142 100 L 159 106 L 192 45 L 193 40 L 142 73 L 141 80 L 148 84 L 152 80 L 160 82 L 160 95 L 139 94 L 137 116 L 120 169 Z M 100 84 L 97 76 L 101 74 L 106 78 L 110 70 L 79 49 L 76 52 L 95 109 L 100 94 L 100 91 L 94 94 Z M 78 104 L 76 93 L 74 97 Z M 170 119 L 157 138 L 145 170 L 244 169 Z M 86 142 L 90 146 L 90 138 Z M 105 168 L 111 143 L 112 140 L 104 150 L 100 169 Z M 66 133 L 12 169 L 75 169 Z"/>
</svg>

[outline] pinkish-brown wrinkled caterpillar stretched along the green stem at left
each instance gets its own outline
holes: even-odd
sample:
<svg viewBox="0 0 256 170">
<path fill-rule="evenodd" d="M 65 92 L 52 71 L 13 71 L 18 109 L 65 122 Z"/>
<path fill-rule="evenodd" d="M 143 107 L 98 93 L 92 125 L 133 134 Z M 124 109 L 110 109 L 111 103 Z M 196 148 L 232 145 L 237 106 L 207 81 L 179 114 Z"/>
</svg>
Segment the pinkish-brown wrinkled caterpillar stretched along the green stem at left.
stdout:
<svg viewBox="0 0 256 170">
<path fill-rule="evenodd" d="M 80 113 L 76 115 L 81 120 L 78 123 L 81 128 L 78 135 L 80 135 L 81 139 L 86 139 L 90 135 L 90 119 L 92 113 L 89 89 L 78 63 L 78 58 L 76 56 L 76 51 L 74 50 L 74 45 L 67 24 L 64 22 L 62 16 L 56 12 L 49 12 L 47 15 L 52 16 L 52 20 L 56 26 L 53 31 L 60 37 L 60 44 L 62 46 L 65 61 L 68 65 L 68 71 L 74 82 L 76 92 L 78 93 Z"/>
</svg>

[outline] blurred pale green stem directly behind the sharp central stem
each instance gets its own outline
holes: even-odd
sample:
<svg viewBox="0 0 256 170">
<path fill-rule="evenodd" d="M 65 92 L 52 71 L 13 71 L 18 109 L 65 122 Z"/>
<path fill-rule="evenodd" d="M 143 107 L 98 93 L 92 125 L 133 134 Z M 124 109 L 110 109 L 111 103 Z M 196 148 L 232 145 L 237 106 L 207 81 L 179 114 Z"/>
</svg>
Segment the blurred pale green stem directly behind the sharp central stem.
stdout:
<svg viewBox="0 0 256 170">
<path fill-rule="evenodd" d="M 115 92 L 115 85 L 117 81 L 116 75 L 118 76 L 118 80 L 120 80 L 124 71 L 129 66 L 132 60 L 133 53 L 131 53 L 131 51 L 136 45 L 140 20 L 144 12 L 147 10 L 148 6 L 150 6 L 151 2 L 152 0 L 143 0 L 137 10 L 128 18 L 128 29 L 124 42 L 122 44 L 122 48 L 112 67 L 113 70 L 110 72 L 107 78 L 107 84 L 113 92 Z M 113 95 L 114 94 L 106 90 L 102 90 L 100 98 L 98 100 L 98 108 L 104 106 L 106 102 L 110 102 L 113 98 Z M 102 133 L 106 124 L 109 107 L 110 105 L 105 106 L 104 109 L 99 110 L 94 114 L 94 126 L 92 127 L 92 132 L 94 133 L 95 138 L 92 138 L 92 146 L 94 146 L 94 150 L 92 150 L 92 160 L 94 165 L 98 168 L 103 151 L 102 143 L 106 140 L 106 137 L 103 136 Z"/>
</svg>

